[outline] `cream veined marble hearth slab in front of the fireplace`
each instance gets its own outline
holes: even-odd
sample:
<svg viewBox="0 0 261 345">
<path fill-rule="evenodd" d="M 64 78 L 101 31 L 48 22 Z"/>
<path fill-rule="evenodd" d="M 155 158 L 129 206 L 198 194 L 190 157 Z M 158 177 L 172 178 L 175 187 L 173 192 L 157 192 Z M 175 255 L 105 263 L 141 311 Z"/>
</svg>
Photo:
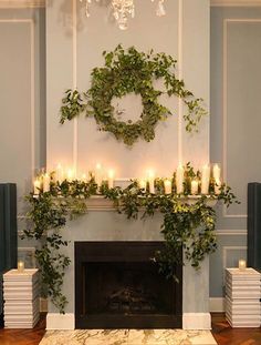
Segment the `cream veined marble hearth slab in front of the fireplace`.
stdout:
<svg viewBox="0 0 261 345">
<path fill-rule="evenodd" d="M 77 329 L 48 331 L 40 345 L 216 345 L 210 331 Z"/>
</svg>

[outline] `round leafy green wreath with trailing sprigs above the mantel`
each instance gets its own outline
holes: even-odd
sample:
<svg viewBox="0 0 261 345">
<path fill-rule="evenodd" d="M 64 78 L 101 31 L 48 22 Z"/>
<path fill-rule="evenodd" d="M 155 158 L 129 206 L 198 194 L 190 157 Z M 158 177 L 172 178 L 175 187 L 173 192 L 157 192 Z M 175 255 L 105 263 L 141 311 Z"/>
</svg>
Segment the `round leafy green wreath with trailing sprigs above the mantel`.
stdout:
<svg viewBox="0 0 261 345">
<path fill-rule="evenodd" d="M 202 99 L 196 99 L 185 89 L 182 80 L 175 75 L 177 61 L 165 53 L 154 54 L 137 51 L 134 47 L 124 50 L 117 45 L 112 52 L 103 53 L 105 65 L 92 71 L 91 88 L 81 94 L 77 90 L 67 90 L 62 100 L 61 123 L 72 120 L 85 111 L 86 116 L 94 116 L 101 131 L 111 132 L 117 140 L 133 145 L 139 138 L 149 142 L 155 138 L 155 128 L 165 121 L 171 112 L 161 105 L 161 94 L 181 98 L 188 108 L 184 120 L 186 130 L 191 132 L 207 112 L 201 105 Z M 164 91 L 154 88 L 155 80 L 164 80 Z M 123 98 L 134 92 L 140 94 L 143 112 L 139 120 L 124 122 L 122 110 L 112 105 L 114 98 Z"/>
</svg>

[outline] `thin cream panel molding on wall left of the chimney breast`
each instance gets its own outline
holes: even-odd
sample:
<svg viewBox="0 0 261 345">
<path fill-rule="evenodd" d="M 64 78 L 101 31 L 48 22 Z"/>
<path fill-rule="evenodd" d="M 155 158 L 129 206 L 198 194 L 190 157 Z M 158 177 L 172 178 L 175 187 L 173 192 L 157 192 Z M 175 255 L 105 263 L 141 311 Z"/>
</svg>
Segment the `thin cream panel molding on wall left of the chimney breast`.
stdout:
<svg viewBox="0 0 261 345">
<path fill-rule="evenodd" d="M 0 0 L 0 9 L 1 3 L 4 1 Z M 8 1 L 6 1 L 8 2 Z M 12 1 L 20 2 L 20 1 Z M 23 1 L 21 1 L 23 2 Z M 30 122 L 31 122 L 31 180 L 33 183 L 34 179 L 34 169 L 35 169 L 35 47 L 34 47 L 34 22 L 30 18 L 25 19 L 0 19 L 0 23 L 28 23 L 30 26 Z"/>
</svg>

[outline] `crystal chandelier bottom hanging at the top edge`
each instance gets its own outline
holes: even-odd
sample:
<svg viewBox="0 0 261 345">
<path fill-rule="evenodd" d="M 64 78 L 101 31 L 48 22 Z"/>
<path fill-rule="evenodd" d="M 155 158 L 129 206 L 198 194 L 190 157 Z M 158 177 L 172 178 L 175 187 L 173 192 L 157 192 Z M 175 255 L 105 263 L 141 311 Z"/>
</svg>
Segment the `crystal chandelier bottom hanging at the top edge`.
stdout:
<svg viewBox="0 0 261 345">
<path fill-rule="evenodd" d="M 80 0 L 83 2 L 83 0 Z M 100 2 L 101 0 L 96 0 Z M 144 1 L 144 0 L 143 0 Z M 150 0 L 154 2 L 155 0 Z M 165 16 L 165 7 L 164 0 L 157 0 L 156 14 L 158 17 Z M 90 6 L 92 4 L 92 0 L 85 0 L 86 2 L 86 17 L 90 17 Z M 134 0 L 111 0 L 111 7 L 113 10 L 113 17 L 115 18 L 117 26 L 121 30 L 127 29 L 127 20 L 128 18 L 134 18 L 135 16 L 135 6 Z"/>
</svg>

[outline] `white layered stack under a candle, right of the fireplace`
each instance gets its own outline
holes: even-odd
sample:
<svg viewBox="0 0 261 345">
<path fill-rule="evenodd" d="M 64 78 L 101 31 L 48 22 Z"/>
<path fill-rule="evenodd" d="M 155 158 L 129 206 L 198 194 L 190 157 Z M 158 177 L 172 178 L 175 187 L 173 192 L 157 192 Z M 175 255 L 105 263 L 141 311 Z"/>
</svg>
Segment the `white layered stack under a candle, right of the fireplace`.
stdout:
<svg viewBox="0 0 261 345">
<path fill-rule="evenodd" d="M 260 287 L 255 270 L 226 270 L 226 317 L 232 327 L 260 326 Z"/>
</svg>

